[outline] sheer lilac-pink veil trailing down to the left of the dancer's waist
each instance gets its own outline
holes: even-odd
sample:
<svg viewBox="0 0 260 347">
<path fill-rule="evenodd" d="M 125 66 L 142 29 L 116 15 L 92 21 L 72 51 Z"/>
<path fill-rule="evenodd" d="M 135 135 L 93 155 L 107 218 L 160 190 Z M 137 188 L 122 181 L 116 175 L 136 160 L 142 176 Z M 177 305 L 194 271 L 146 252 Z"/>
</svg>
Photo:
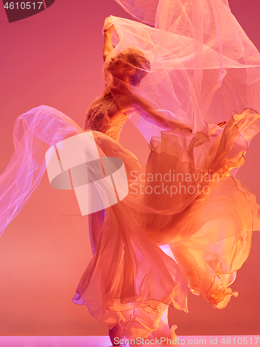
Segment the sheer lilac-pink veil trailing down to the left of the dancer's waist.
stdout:
<svg viewBox="0 0 260 347">
<path fill-rule="evenodd" d="M 0 176 L 0 236 L 40 184 L 49 147 L 78 133 L 83 130 L 70 117 L 44 105 L 16 119 L 15 152 Z"/>
</svg>

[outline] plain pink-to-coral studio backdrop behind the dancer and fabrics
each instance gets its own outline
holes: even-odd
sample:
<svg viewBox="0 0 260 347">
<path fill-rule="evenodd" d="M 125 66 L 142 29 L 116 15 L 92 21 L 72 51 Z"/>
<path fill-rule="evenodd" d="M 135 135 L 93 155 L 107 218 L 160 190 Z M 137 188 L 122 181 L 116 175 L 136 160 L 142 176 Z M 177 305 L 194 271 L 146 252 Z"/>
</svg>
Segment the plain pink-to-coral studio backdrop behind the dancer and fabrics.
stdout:
<svg viewBox="0 0 260 347">
<path fill-rule="evenodd" d="M 259 0 L 229 3 L 260 49 Z M 108 15 L 131 19 L 112 0 L 56 0 L 40 14 L 8 24 L 0 6 L 0 172 L 13 153 L 15 119 L 27 110 L 49 105 L 83 128 L 88 105 L 104 89 L 101 28 Z M 147 143 L 131 121 L 120 142 L 145 162 Z M 237 174 L 258 202 L 259 149 L 260 135 Z M 259 246 L 255 232 L 250 257 L 231 286 L 239 296 L 225 310 L 213 310 L 192 294 L 188 314 L 170 309 L 178 335 L 260 333 Z M 45 172 L 0 239 L 0 335 L 106 335 L 106 325 L 88 307 L 71 301 L 90 258 L 88 217 L 81 216 L 74 192 L 51 188 Z"/>
</svg>

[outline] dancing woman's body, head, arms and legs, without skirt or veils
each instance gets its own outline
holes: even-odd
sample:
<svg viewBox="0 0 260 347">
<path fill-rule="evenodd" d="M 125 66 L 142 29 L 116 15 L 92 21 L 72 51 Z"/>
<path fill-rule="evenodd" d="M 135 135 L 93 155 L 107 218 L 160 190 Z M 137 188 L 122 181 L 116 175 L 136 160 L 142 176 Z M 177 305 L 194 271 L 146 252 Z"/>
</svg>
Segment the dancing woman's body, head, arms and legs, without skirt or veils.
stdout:
<svg viewBox="0 0 260 347">
<path fill-rule="evenodd" d="M 115 31 L 113 24 L 104 29 L 104 62 L 113 51 L 111 40 L 113 31 Z M 130 92 L 130 86 L 140 85 L 142 79 L 149 73 L 149 65 L 149 60 L 137 49 L 125 49 L 108 62 L 106 73 L 113 77 L 113 88 L 110 89 L 106 86 L 103 94 L 90 105 L 86 115 L 85 130 L 94 130 L 94 133 L 98 131 L 118 141 L 122 125 L 129 119 L 125 112 L 128 112 L 130 117 L 133 112 L 138 112 L 147 121 L 158 124 L 161 128 L 170 130 L 178 127 L 191 131 L 191 128 L 185 124 L 165 118 L 162 113 L 156 112 L 145 99 Z M 105 154 L 108 155 L 108 153 Z M 90 214 L 88 218 L 93 255 L 97 250 L 104 215 L 105 210 L 102 210 Z M 81 302 L 79 293 L 75 294 L 73 301 L 74 303 Z M 111 324 L 108 323 L 108 326 L 111 327 Z M 120 325 L 112 324 L 108 335 L 113 344 L 115 337 L 122 340 Z"/>
</svg>

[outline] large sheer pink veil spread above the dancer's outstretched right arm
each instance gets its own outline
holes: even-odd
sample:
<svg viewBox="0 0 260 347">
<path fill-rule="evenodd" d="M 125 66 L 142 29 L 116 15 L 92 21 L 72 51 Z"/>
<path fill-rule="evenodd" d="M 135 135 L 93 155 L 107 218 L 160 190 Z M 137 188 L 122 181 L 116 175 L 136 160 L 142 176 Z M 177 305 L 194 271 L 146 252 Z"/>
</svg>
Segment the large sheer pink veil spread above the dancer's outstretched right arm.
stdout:
<svg viewBox="0 0 260 347">
<path fill-rule="evenodd" d="M 227 121 L 232 111 L 259 112 L 260 53 L 226 0 L 115 1 L 143 23 L 108 17 L 106 26 L 116 28 L 111 56 L 133 47 L 151 62 L 133 93 L 193 133 L 205 122 Z M 131 121 L 147 141 L 160 135 L 161 128 L 137 114 Z"/>
</svg>

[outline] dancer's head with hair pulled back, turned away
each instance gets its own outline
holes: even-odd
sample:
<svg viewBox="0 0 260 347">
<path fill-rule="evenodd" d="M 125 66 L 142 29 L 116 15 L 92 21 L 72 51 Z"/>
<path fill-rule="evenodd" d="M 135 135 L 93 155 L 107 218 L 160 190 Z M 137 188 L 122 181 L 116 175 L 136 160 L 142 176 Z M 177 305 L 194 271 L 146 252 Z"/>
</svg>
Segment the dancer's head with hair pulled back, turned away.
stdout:
<svg viewBox="0 0 260 347">
<path fill-rule="evenodd" d="M 138 49 L 124 49 L 108 63 L 107 70 L 113 77 L 129 82 L 133 86 L 148 74 L 150 62 Z"/>
</svg>

